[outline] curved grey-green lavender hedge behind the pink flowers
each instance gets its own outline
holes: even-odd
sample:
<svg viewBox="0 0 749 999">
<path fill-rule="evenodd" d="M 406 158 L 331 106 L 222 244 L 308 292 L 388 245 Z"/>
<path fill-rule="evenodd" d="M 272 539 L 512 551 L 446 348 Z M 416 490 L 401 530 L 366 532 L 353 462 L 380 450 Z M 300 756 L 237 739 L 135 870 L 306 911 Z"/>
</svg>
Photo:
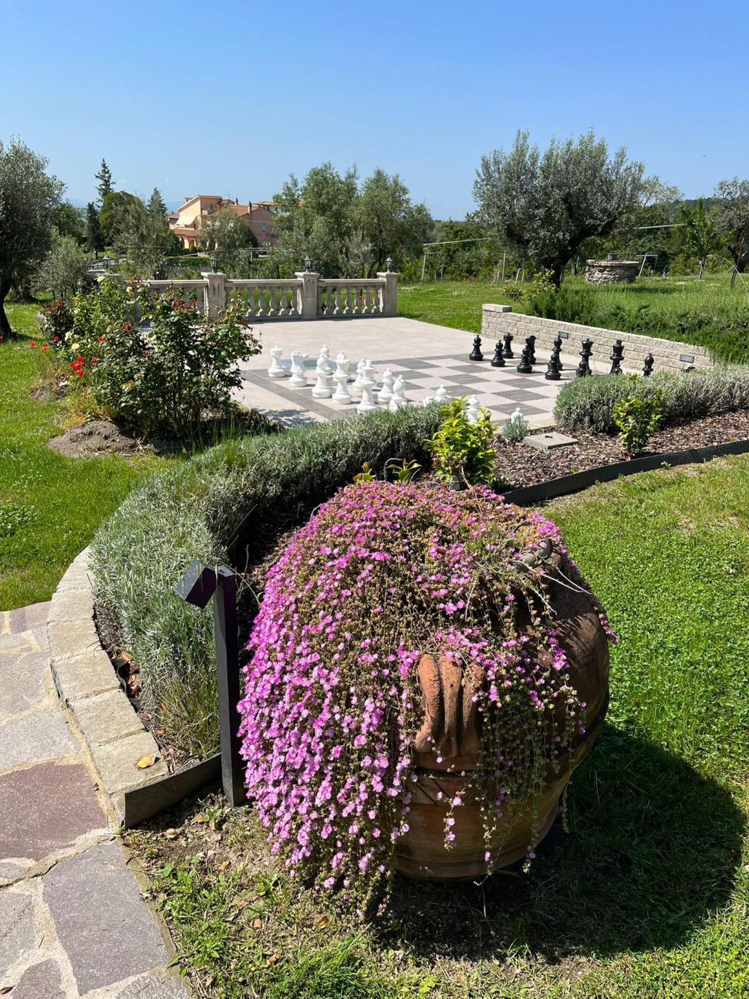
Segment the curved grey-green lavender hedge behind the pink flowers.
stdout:
<svg viewBox="0 0 749 999">
<path fill-rule="evenodd" d="M 253 566 L 280 533 L 369 462 L 427 466 L 424 439 L 437 406 L 225 442 L 148 481 L 100 527 L 92 542 L 100 630 L 141 669 L 142 698 L 173 740 L 203 757 L 218 748 L 210 607 L 184 603 L 174 586 L 193 558 L 243 573 L 241 638 L 257 607 Z"/>
</svg>

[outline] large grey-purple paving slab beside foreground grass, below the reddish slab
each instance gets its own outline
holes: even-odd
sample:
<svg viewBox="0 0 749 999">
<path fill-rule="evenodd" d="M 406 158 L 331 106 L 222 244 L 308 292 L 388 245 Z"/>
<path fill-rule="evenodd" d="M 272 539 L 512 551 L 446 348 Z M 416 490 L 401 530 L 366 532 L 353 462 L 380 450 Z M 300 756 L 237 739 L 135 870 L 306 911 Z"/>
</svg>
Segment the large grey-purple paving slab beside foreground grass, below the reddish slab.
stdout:
<svg viewBox="0 0 749 999">
<path fill-rule="evenodd" d="M 82 995 L 169 960 L 138 883 L 115 843 L 91 847 L 62 861 L 42 881 L 44 901 Z"/>
</svg>

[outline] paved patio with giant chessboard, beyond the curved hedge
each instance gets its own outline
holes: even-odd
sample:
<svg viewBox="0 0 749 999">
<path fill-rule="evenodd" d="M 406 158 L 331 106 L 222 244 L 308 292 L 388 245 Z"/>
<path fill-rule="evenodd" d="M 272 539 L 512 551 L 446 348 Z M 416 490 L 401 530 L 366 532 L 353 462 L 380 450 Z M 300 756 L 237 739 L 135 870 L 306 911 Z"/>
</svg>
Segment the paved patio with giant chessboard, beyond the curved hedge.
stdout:
<svg viewBox="0 0 749 999">
<path fill-rule="evenodd" d="M 334 361 L 342 350 L 355 365 L 362 358 L 372 360 L 380 380 L 385 368 L 400 375 L 405 382 L 406 399 L 411 403 L 433 396 L 443 385 L 454 398 L 477 396 L 479 404 L 490 410 L 500 423 L 519 407 L 533 428 L 553 424 L 556 394 L 574 377 L 579 362 L 576 355 L 562 354 L 561 381 L 547 382 L 543 376 L 548 352 L 536 351 L 533 374 L 518 375 L 516 367 L 522 344 L 512 344 L 515 359 L 507 361 L 505 368 L 492 368 L 489 361 L 493 342 L 483 342 L 482 362 L 471 362 L 468 354 L 475 334 L 402 317 L 276 320 L 257 323 L 254 328 L 262 333 L 263 353 L 243 364 L 243 385 L 235 393 L 235 399 L 286 426 L 357 415 L 356 406 L 313 398 L 314 369 L 323 344 L 328 345 Z M 276 345 L 284 348 L 282 363 L 287 366 L 292 351 L 309 355 L 306 367 L 311 375 L 307 388 L 296 389 L 289 385 L 288 379 L 269 378 L 271 348 Z M 603 374 L 604 370 L 607 369 L 601 365 L 594 368 L 597 374 Z M 356 395 L 355 400 L 359 399 Z"/>
</svg>

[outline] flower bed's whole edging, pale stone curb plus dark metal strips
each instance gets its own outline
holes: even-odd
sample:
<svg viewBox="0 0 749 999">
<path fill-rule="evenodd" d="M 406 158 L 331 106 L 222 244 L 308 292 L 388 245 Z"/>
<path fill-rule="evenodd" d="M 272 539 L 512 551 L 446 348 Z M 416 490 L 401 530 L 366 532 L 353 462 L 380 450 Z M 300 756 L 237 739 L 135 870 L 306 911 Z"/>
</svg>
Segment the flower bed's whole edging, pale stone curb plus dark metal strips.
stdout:
<svg viewBox="0 0 749 999">
<path fill-rule="evenodd" d="M 530 505 L 579 493 L 622 476 L 747 453 L 749 440 L 649 455 L 522 487 L 504 497 L 518 505 Z M 52 675 L 60 700 L 72 711 L 86 740 L 102 789 L 127 828 L 158 815 L 203 787 L 218 784 L 221 754 L 169 773 L 156 739 L 122 689 L 99 639 L 94 581 L 89 548 L 85 548 L 70 564 L 52 597 L 47 619 Z M 147 755 L 154 755 L 155 763 L 138 769 L 136 764 Z"/>
</svg>

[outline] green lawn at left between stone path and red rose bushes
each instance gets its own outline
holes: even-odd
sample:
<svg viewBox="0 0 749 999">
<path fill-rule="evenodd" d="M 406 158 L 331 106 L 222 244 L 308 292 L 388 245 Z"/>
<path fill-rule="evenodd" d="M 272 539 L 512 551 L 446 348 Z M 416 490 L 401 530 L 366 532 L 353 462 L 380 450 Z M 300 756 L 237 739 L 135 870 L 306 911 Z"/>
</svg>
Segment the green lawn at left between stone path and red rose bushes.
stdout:
<svg viewBox="0 0 749 999">
<path fill-rule="evenodd" d="M 37 337 L 36 305 L 6 306 L 11 326 Z M 138 479 L 158 460 L 71 459 L 45 442 L 60 433 L 58 400 L 29 392 L 38 376 L 28 340 L 0 343 L 0 608 L 47 600 Z"/>
</svg>

